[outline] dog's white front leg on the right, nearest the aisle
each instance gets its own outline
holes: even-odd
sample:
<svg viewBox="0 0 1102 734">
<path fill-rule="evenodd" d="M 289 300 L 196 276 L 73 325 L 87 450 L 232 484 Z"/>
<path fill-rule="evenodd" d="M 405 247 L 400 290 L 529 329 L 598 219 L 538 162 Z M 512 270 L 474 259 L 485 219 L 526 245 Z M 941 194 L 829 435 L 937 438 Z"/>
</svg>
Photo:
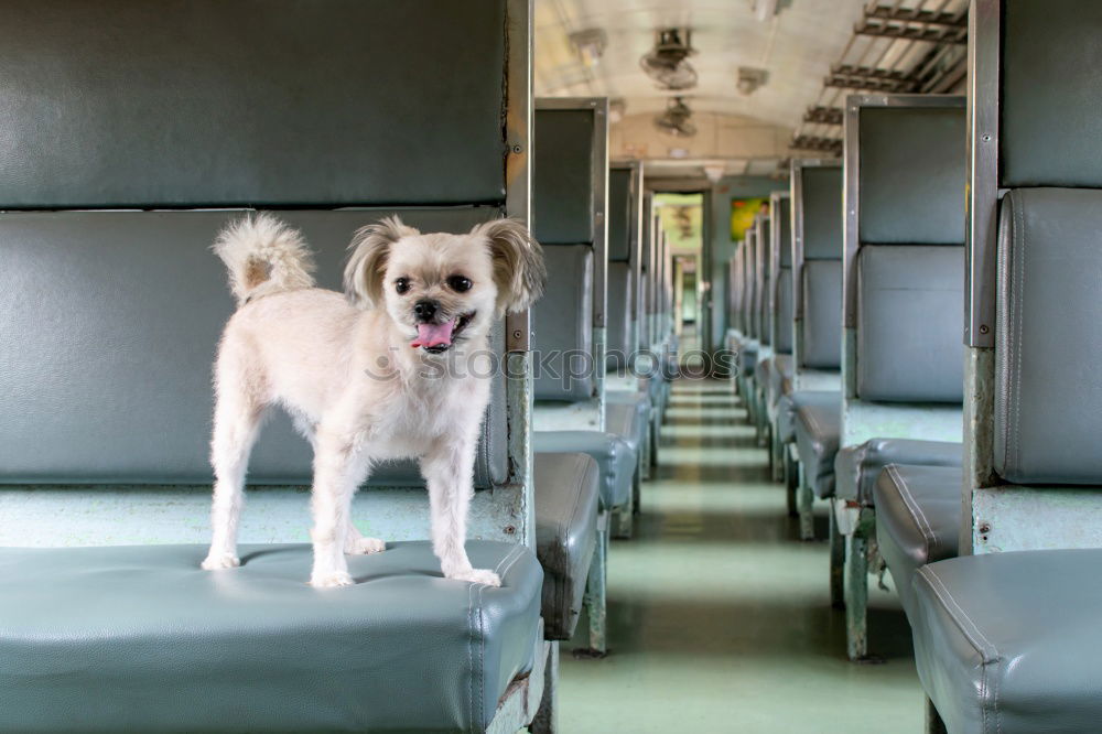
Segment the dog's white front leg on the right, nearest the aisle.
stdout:
<svg viewBox="0 0 1102 734">
<path fill-rule="evenodd" d="M 500 586 L 501 579 L 486 569 L 474 569 L 464 546 L 467 510 L 474 494 L 475 446 L 456 441 L 434 447 L 421 460 L 421 473 L 429 484 L 432 518 L 432 551 L 440 559 L 446 579 Z"/>
</svg>

